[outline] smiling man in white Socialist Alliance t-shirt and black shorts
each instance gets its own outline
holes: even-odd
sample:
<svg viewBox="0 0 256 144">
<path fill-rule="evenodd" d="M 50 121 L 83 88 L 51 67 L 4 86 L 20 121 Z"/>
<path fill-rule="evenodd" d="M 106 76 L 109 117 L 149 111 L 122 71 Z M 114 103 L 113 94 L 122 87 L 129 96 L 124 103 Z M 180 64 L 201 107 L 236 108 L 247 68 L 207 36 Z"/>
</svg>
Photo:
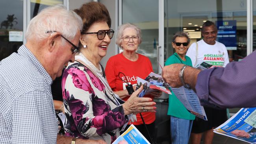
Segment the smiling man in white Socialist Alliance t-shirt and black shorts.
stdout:
<svg viewBox="0 0 256 144">
<path fill-rule="evenodd" d="M 228 52 L 224 44 L 217 42 L 217 27 L 211 21 L 206 21 L 202 26 L 202 40 L 191 44 L 187 50 L 193 67 L 197 67 L 202 62 L 206 62 L 212 67 L 225 67 L 229 63 Z M 204 143 L 210 144 L 213 139 L 213 128 L 226 121 L 226 109 L 218 110 L 204 107 L 208 121 L 194 120 L 191 131 L 192 144 L 200 144 L 204 133 Z"/>
</svg>

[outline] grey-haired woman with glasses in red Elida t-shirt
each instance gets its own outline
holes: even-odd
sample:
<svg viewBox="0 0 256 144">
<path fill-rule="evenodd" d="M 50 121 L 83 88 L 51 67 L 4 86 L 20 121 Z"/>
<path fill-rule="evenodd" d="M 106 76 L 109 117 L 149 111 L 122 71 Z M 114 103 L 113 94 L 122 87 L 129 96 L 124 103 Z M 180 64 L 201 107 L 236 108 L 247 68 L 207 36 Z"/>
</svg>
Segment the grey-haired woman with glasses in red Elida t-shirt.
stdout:
<svg viewBox="0 0 256 144">
<path fill-rule="evenodd" d="M 119 26 L 117 31 L 116 44 L 122 48 L 123 52 L 110 57 L 106 65 L 106 78 L 111 89 L 118 94 L 122 100 L 126 101 L 130 95 L 126 90 L 127 80 L 129 84 L 134 86 L 137 84 L 137 78 L 145 79 L 150 72 L 153 72 L 153 68 L 148 57 L 136 53 L 139 44 L 141 43 L 141 30 L 134 24 L 123 24 Z M 119 72 L 125 74 L 126 78 Z M 146 93 L 144 97 L 154 98 L 161 96 L 160 91 L 154 91 Z M 151 137 L 154 135 L 154 121 L 156 119 L 156 114 L 152 112 L 141 113 L 145 124 L 147 125 L 148 131 Z M 136 115 L 137 122 L 133 122 L 137 129 L 151 142 L 145 126 L 141 120 L 140 114 Z"/>
</svg>

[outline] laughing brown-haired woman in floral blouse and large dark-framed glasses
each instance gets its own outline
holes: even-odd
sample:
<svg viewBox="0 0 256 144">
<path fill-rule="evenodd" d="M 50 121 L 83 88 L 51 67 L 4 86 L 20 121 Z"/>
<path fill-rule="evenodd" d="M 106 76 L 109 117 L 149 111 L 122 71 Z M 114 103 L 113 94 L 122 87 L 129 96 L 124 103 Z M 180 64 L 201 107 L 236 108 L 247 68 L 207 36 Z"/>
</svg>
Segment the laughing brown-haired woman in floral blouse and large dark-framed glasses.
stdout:
<svg viewBox="0 0 256 144">
<path fill-rule="evenodd" d="M 74 11 L 83 19 L 83 30 L 75 61 L 63 73 L 65 134 L 103 139 L 110 144 L 119 137 L 119 128 L 128 122 L 128 114 L 155 112 L 156 103 L 151 98 L 137 97 L 142 87 L 126 102 L 121 102 L 109 87 L 100 65 L 114 33 L 106 7 L 89 2 Z"/>
</svg>

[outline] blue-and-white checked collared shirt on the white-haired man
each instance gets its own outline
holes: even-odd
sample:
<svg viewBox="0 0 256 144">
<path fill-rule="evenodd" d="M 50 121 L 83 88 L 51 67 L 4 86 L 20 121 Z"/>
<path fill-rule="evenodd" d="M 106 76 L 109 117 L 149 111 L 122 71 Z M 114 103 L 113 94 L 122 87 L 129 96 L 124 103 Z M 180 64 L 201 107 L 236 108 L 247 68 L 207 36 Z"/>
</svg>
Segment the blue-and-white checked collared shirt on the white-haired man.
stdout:
<svg viewBox="0 0 256 144">
<path fill-rule="evenodd" d="M 24 45 L 0 61 L 0 143 L 53 144 L 52 79 Z"/>
</svg>

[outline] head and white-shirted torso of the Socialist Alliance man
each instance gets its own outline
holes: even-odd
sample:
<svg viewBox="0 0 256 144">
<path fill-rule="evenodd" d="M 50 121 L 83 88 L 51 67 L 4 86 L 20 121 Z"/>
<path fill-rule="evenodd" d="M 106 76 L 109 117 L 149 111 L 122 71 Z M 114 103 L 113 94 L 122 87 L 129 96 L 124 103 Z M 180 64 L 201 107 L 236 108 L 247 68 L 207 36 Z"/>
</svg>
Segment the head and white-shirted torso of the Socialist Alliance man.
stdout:
<svg viewBox="0 0 256 144">
<path fill-rule="evenodd" d="M 193 67 L 200 65 L 202 62 L 209 63 L 213 67 L 225 67 L 229 63 L 226 46 L 215 41 L 217 37 L 215 24 L 210 21 L 207 21 L 207 23 L 211 25 L 202 28 L 204 39 L 191 44 L 186 55 L 190 57 Z M 207 23 L 205 22 L 205 24 Z"/>
</svg>

